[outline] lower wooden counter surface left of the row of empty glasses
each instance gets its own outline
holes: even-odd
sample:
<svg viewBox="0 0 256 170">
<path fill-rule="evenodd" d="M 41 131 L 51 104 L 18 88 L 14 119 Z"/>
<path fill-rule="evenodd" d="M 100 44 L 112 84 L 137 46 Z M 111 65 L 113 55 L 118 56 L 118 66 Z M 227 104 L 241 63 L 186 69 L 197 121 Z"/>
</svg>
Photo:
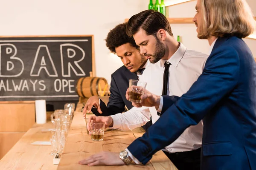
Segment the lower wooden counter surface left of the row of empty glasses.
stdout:
<svg viewBox="0 0 256 170">
<path fill-rule="evenodd" d="M 35 141 L 49 141 L 50 132 L 42 132 L 54 128 L 52 122 L 35 124 L 0 160 L 0 170 L 56 170 L 53 165 L 51 146 L 31 145 Z"/>
</svg>

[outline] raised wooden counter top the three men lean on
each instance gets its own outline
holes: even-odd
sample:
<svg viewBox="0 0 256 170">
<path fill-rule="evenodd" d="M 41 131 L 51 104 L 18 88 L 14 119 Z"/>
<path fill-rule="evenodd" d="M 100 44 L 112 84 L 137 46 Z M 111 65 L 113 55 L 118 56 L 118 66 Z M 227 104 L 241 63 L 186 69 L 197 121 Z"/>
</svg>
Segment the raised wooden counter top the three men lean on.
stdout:
<svg viewBox="0 0 256 170">
<path fill-rule="evenodd" d="M 79 108 L 79 107 L 78 107 Z M 81 108 L 79 108 L 81 110 Z M 78 110 L 77 110 L 78 111 Z M 145 133 L 142 128 L 121 131 L 121 130 L 105 130 L 104 140 L 102 142 L 94 142 L 86 133 L 85 122 L 81 112 L 76 112 L 67 136 L 64 152 L 61 156 L 58 170 L 177 170 L 172 162 L 167 158 L 163 151 L 154 154 L 151 161 L 145 166 L 143 165 L 125 165 L 125 166 L 96 166 L 88 167 L 80 165 L 77 162 L 91 156 L 100 151 L 120 152 L 128 147 L 137 137 Z"/>
</svg>

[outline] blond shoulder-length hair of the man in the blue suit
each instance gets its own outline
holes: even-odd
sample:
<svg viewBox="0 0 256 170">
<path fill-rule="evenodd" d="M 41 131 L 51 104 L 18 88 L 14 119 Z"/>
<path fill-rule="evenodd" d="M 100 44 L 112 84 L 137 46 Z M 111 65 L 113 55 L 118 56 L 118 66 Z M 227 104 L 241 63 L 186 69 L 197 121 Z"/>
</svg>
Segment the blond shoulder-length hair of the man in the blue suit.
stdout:
<svg viewBox="0 0 256 170">
<path fill-rule="evenodd" d="M 198 37 L 247 37 L 256 28 L 245 0 L 201 0 L 204 24 Z"/>
</svg>

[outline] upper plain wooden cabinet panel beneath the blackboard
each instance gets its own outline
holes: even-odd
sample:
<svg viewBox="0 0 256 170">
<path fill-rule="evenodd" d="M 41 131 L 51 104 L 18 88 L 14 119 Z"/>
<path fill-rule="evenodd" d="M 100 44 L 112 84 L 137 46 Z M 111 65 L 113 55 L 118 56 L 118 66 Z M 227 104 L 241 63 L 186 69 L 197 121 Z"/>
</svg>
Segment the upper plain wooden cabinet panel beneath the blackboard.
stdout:
<svg viewBox="0 0 256 170">
<path fill-rule="evenodd" d="M 35 102 L 0 103 L 0 132 L 26 132 L 35 124 Z"/>
</svg>

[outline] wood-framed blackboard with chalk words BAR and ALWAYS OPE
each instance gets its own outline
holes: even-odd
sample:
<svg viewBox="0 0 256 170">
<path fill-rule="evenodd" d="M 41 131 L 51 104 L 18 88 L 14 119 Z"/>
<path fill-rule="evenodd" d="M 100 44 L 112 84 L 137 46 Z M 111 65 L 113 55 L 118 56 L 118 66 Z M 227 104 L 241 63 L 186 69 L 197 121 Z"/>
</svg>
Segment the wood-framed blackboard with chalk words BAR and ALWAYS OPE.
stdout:
<svg viewBox="0 0 256 170">
<path fill-rule="evenodd" d="M 0 37 L 0 100 L 78 100 L 94 72 L 93 36 Z"/>
</svg>

